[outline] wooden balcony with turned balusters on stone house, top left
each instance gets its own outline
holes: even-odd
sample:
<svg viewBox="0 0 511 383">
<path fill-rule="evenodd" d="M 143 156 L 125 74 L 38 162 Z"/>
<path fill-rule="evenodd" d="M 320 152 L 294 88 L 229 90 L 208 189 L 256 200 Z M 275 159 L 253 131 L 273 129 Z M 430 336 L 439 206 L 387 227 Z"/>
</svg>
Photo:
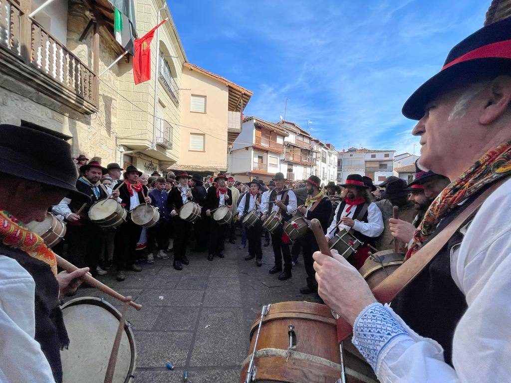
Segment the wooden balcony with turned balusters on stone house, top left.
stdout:
<svg viewBox="0 0 511 383">
<path fill-rule="evenodd" d="M 0 36 L 0 71 L 84 114 L 97 112 L 96 74 L 12 0 L 0 0 Z"/>
</svg>

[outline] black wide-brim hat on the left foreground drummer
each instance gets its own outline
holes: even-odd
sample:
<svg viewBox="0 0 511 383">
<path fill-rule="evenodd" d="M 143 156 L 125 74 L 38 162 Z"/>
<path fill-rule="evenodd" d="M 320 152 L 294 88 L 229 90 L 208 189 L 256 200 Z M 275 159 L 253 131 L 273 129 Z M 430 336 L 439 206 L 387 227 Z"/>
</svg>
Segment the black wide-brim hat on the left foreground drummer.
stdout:
<svg viewBox="0 0 511 383">
<path fill-rule="evenodd" d="M 90 200 L 76 188 L 71 146 L 35 129 L 0 125 L 0 173 L 67 190 L 71 199 Z"/>
</svg>

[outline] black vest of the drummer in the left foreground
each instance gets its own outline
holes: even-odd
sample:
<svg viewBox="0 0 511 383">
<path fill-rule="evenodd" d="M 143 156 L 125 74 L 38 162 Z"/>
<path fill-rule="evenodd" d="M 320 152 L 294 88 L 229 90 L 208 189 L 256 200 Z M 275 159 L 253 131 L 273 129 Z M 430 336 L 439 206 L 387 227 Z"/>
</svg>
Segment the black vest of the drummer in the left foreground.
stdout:
<svg viewBox="0 0 511 383">
<path fill-rule="evenodd" d="M 59 307 L 59 284 L 50 266 L 26 252 L 0 243 L 0 254 L 15 259 L 35 282 L 35 340 L 52 368 L 57 383 L 62 382 L 60 350 L 69 345 L 69 338 Z M 22 361 L 20 361 L 22 363 Z"/>
</svg>

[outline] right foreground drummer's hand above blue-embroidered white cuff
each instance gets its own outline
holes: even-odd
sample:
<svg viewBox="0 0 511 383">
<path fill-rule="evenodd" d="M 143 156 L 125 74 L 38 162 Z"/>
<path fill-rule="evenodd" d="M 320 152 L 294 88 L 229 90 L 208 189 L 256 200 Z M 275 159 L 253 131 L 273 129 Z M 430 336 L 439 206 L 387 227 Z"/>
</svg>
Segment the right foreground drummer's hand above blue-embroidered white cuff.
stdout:
<svg viewBox="0 0 511 383">
<path fill-rule="evenodd" d="M 318 294 L 323 301 L 352 326 L 360 312 L 376 298 L 362 275 L 332 251 L 333 258 L 316 251 L 313 255 Z"/>
</svg>

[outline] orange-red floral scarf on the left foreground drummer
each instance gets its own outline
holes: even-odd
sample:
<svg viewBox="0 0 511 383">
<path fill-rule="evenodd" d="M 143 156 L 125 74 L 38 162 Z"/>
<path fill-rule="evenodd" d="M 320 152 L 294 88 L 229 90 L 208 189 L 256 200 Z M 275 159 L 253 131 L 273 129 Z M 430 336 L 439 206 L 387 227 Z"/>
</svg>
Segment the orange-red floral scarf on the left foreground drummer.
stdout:
<svg viewBox="0 0 511 383">
<path fill-rule="evenodd" d="M 6 210 L 0 210 L 0 238 L 4 245 L 25 251 L 31 257 L 48 264 L 57 275 L 57 258 L 42 238 L 30 231 Z"/>
</svg>

